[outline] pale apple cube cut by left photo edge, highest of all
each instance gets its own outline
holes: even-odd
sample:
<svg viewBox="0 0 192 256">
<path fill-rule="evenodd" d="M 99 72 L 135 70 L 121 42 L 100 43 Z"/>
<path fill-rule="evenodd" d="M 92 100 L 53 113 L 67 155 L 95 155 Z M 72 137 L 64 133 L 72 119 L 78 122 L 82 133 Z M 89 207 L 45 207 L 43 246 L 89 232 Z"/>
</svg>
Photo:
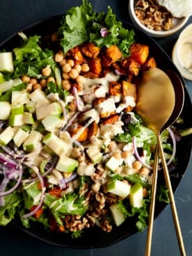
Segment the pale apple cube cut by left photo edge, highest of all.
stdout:
<svg viewBox="0 0 192 256">
<path fill-rule="evenodd" d="M 14 71 L 13 67 L 13 54 L 12 52 L 1 52 L 0 53 L 0 72 Z"/>
</svg>

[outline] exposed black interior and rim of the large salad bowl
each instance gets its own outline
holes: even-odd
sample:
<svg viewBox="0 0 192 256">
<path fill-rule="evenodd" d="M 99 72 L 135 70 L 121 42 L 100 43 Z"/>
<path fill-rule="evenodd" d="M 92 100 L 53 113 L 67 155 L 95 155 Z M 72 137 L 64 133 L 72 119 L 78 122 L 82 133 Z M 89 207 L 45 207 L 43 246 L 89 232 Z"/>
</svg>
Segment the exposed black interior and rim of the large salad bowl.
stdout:
<svg viewBox="0 0 192 256">
<path fill-rule="evenodd" d="M 60 21 L 61 15 L 50 17 L 48 19 L 43 19 L 42 21 L 27 27 L 23 30 L 23 32 L 26 33 L 27 36 L 37 34 L 42 35 L 42 38 L 47 38 L 47 36 L 51 35 L 51 33 L 56 31 L 56 29 L 60 25 Z M 150 46 L 150 54 L 156 58 L 157 65 L 159 68 L 161 68 L 161 70 L 165 72 L 166 70 L 173 70 L 179 76 L 183 83 L 185 94 L 184 108 L 181 114 L 184 120 L 184 124 L 181 126 L 181 128 L 184 129 L 191 127 L 192 104 L 189 94 L 184 85 L 184 79 L 182 79 L 181 74 L 179 74 L 179 71 L 177 70 L 169 56 L 166 54 L 165 51 L 163 51 L 163 49 L 161 49 L 161 47 L 159 47 L 157 42 L 155 42 L 152 38 L 150 38 L 142 31 L 136 29 L 135 26 L 127 24 L 126 22 L 124 22 L 123 25 L 127 29 L 134 29 L 136 42 L 141 42 Z M 0 50 L 6 49 L 11 51 L 14 47 L 17 47 L 17 45 L 19 45 L 19 42 L 20 37 L 15 34 L 0 45 Z M 188 166 L 191 155 L 191 144 L 192 136 L 182 138 L 182 140 L 179 141 L 179 143 L 177 144 L 177 168 L 170 172 L 170 179 L 173 186 L 173 191 L 177 189 L 177 186 L 184 175 L 186 167 Z M 166 204 L 157 203 L 155 209 L 156 218 L 164 209 L 164 207 L 166 207 Z M 33 223 L 31 227 L 29 227 L 29 229 L 25 229 L 19 219 L 15 219 L 15 221 L 13 221 L 13 224 L 19 227 L 24 232 L 27 232 L 33 237 L 36 237 L 47 243 L 51 243 L 56 246 L 64 246 L 78 249 L 101 248 L 109 246 L 137 232 L 135 227 L 135 221 L 133 218 L 125 221 L 125 223 L 120 225 L 120 227 L 114 227 L 112 232 L 110 233 L 102 232 L 99 227 L 94 227 L 90 230 L 85 230 L 82 237 L 77 239 L 72 239 L 70 234 L 47 232 L 47 230 L 45 230 L 45 228 L 39 223 Z"/>
</svg>

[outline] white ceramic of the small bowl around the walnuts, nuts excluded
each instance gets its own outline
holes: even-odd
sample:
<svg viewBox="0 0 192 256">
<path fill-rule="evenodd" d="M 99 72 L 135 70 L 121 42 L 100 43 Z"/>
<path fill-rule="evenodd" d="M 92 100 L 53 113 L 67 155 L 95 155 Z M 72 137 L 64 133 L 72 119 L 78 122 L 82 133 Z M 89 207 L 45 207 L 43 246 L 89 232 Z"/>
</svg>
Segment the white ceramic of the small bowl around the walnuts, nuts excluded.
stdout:
<svg viewBox="0 0 192 256">
<path fill-rule="evenodd" d="M 168 35 L 173 35 L 173 33 L 176 33 L 179 31 L 179 29 L 182 29 L 184 24 L 188 21 L 189 17 L 182 17 L 182 18 L 173 18 L 174 27 L 173 29 L 169 29 L 168 31 L 155 31 L 153 29 L 148 29 L 147 26 L 143 25 L 138 17 L 136 17 L 135 10 L 134 10 L 134 2 L 135 0 L 129 0 L 128 2 L 128 9 L 129 9 L 129 16 L 131 18 L 131 21 L 141 30 L 143 30 L 148 35 L 154 37 L 154 38 L 163 38 Z"/>
</svg>

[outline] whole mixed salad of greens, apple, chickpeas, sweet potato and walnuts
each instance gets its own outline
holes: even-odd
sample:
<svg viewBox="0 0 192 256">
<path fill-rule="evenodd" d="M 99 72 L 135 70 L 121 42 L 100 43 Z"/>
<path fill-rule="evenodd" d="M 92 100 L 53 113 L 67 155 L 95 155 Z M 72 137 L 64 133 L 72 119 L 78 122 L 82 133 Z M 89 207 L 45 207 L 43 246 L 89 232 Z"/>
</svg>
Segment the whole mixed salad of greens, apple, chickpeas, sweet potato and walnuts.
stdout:
<svg viewBox="0 0 192 256">
<path fill-rule="evenodd" d="M 138 77 L 158 66 L 150 46 L 86 0 L 49 36 L 18 35 L 0 53 L 0 225 L 81 237 L 131 219 L 143 231 L 157 138 L 134 107 Z M 172 128 L 161 141 L 174 168 L 175 133 L 191 131 Z M 161 182 L 157 200 L 167 192 Z"/>
</svg>

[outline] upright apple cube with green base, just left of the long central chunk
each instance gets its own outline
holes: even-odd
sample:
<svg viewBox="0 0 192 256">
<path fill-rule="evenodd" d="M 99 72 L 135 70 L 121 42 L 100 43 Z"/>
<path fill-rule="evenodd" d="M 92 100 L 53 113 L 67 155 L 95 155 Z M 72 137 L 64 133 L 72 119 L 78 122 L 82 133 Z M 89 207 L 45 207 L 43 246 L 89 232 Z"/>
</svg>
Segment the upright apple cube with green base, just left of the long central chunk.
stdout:
<svg viewBox="0 0 192 256">
<path fill-rule="evenodd" d="M 26 152 L 35 150 L 42 139 L 42 134 L 39 131 L 31 130 L 29 136 L 23 143 L 23 149 Z"/>
</svg>

